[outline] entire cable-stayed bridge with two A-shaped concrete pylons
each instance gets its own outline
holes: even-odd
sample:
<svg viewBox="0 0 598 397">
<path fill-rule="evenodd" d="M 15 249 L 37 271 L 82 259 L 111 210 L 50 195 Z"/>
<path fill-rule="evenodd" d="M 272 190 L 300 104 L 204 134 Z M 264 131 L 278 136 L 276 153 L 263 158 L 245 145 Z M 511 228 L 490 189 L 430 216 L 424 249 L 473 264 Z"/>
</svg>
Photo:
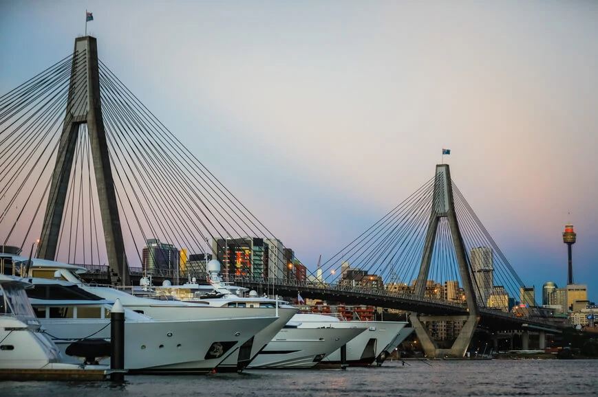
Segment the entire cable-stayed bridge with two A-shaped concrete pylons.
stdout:
<svg viewBox="0 0 598 397">
<path fill-rule="evenodd" d="M 224 249 L 223 273 L 237 284 L 412 312 L 429 355 L 462 356 L 480 325 L 558 328 L 535 308 L 445 164 L 311 275 L 295 277 L 276 236 L 98 58 L 91 36 L 0 96 L 0 152 L 3 247 L 26 253 L 39 238 L 38 258 L 103 269 L 95 276 L 108 282 L 162 270 L 149 263 L 178 264 L 169 247 L 206 260 Z M 275 244 L 258 258 L 241 248 L 248 236 Z M 148 240 L 172 245 L 145 251 Z M 460 324 L 453 345 L 434 341 L 434 321 Z"/>
</svg>

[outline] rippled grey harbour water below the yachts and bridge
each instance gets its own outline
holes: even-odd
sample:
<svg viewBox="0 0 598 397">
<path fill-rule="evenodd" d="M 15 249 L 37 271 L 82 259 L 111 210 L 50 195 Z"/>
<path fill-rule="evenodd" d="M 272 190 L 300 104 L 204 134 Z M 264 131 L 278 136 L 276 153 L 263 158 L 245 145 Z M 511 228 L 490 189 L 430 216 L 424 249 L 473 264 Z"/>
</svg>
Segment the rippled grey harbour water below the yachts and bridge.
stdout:
<svg viewBox="0 0 598 397">
<path fill-rule="evenodd" d="M 1 396 L 591 396 L 598 361 L 401 361 L 341 370 L 128 376 L 109 382 L 5 382 Z"/>
</svg>

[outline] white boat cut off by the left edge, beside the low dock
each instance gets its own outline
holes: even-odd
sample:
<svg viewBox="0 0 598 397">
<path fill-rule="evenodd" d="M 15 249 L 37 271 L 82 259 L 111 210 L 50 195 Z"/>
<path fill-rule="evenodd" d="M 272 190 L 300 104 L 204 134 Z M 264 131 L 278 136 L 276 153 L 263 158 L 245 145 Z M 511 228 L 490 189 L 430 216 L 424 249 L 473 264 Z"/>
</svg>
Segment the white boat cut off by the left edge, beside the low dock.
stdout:
<svg viewBox="0 0 598 397">
<path fill-rule="evenodd" d="M 83 371 L 65 363 L 60 350 L 40 324 L 25 295 L 25 282 L 0 274 L 0 370 Z M 105 366 L 89 369 L 107 370 Z"/>
</svg>

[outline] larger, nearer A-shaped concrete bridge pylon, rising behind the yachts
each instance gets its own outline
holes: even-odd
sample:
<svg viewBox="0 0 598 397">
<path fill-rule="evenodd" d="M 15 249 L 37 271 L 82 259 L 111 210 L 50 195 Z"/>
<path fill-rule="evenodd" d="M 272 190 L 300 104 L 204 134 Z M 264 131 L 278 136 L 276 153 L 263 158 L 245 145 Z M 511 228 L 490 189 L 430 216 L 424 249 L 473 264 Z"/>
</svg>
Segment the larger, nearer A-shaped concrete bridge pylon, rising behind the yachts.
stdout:
<svg viewBox="0 0 598 397">
<path fill-rule="evenodd" d="M 92 36 L 75 39 L 65 120 L 52 173 L 50 194 L 37 251 L 38 258 L 56 259 L 58 235 L 63 222 L 67 189 L 81 124 L 87 124 L 89 133 L 108 264 L 120 276 L 123 284 L 129 284 L 129 266 L 125 257 L 125 243 L 120 228 L 116 191 L 100 104 L 98 44 L 96 38 Z"/>
</svg>

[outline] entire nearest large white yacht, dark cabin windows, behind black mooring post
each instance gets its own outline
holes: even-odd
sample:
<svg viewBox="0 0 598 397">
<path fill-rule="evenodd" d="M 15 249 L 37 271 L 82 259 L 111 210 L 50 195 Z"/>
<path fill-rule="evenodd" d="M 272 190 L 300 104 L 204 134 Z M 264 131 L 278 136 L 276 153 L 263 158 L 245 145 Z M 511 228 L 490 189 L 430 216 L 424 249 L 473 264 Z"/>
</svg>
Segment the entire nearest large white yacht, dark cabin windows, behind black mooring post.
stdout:
<svg viewBox="0 0 598 397">
<path fill-rule="evenodd" d="M 70 282 L 28 280 L 35 286 L 28 291 L 34 312 L 65 356 L 81 339 L 109 341 L 111 301 Z M 273 321 L 275 317 L 156 320 L 125 308 L 125 369 L 208 372 Z M 70 362 L 83 359 L 71 356 Z M 99 362 L 109 363 L 109 358 Z"/>
</svg>

